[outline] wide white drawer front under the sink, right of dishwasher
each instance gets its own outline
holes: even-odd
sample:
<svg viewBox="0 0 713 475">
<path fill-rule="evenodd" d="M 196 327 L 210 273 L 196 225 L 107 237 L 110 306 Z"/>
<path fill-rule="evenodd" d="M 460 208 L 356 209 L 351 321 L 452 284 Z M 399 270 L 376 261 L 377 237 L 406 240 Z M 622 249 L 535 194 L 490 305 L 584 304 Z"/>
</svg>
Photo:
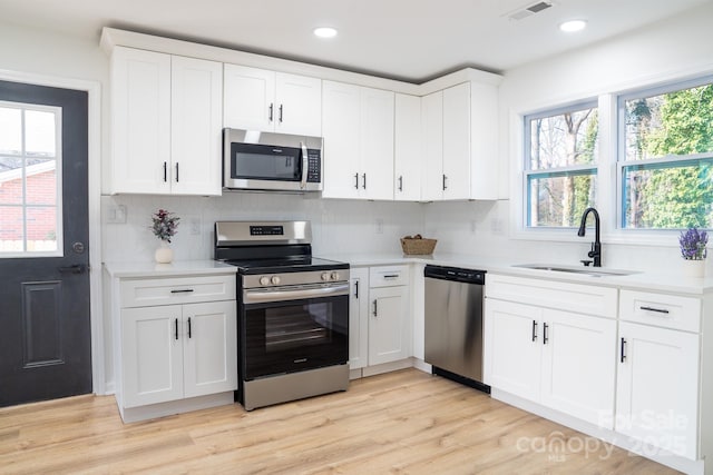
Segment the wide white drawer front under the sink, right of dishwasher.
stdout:
<svg viewBox="0 0 713 475">
<path fill-rule="evenodd" d="M 557 310 L 616 317 L 617 289 L 612 287 L 487 274 L 486 297 Z"/>
</svg>

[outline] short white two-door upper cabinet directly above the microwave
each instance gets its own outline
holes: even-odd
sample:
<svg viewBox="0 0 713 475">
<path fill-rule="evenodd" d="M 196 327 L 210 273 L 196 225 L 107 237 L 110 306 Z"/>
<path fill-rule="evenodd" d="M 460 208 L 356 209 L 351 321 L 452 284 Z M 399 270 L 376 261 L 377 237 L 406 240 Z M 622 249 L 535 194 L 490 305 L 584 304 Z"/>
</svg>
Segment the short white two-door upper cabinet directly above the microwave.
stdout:
<svg viewBox="0 0 713 475">
<path fill-rule="evenodd" d="M 223 123 L 234 129 L 322 135 L 318 78 L 225 65 Z"/>
</svg>

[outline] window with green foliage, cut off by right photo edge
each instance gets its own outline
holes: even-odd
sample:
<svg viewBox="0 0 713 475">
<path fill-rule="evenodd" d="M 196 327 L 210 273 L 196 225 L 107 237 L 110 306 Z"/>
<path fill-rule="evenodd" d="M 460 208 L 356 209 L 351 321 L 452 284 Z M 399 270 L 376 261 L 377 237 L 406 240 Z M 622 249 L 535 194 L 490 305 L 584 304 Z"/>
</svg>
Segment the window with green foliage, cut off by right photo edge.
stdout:
<svg viewBox="0 0 713 475">
<path fill-rule="evenodd" d="M 712 82 L 618 98 L 622 228 L 713 227 Z"/>
</svg>

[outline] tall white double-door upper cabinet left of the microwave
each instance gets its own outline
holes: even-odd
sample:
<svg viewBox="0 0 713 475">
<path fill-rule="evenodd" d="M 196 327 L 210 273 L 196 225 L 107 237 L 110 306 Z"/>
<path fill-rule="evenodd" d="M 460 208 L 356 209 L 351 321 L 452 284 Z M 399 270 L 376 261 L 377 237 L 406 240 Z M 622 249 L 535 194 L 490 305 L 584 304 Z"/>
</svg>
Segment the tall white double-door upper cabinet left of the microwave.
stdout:
<svg viewBox="0 0 713 475">
<path fill-rule="evenodd" d="M 223 65 L 116 47 L 111 192 L 221 195 Z"/>
</svg>

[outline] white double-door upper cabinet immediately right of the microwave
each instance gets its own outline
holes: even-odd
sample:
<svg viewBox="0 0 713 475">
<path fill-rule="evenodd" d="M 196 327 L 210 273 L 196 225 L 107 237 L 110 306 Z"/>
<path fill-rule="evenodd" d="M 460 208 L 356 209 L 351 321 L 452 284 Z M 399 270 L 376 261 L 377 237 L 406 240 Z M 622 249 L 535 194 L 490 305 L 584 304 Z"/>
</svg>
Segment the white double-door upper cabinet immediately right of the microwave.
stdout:
<svg viewBox="0 0 713 475">
<path fill-rule="evenodd" d="M 325 198 L 393 199 L 394 93 L 323 81 Z"/>
</svg>

